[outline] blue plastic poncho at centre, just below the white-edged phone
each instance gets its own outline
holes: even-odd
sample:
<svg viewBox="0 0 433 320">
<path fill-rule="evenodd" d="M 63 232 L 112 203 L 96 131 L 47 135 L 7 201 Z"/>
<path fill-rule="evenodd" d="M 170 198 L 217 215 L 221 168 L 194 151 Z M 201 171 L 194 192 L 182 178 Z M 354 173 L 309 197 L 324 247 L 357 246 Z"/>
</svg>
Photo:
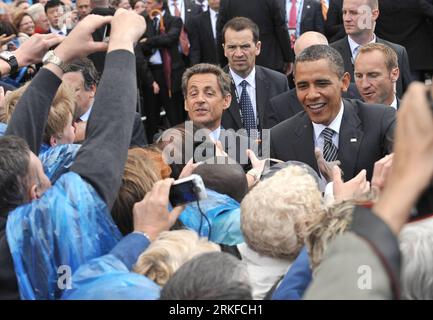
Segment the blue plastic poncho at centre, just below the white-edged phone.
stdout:
<svg viewBox="0 0 433 320">
<path fill-rule="evenodd" d="M 206 214 L 211 224 L 211 241 L 225 245 L 236 245 L 244 242 L 241 232 L 241 215 L 239 203 L 231 197 L 206 189 L 207 199 L 200 201 L 200 208 Z M 209 237 L 209 225 L 202 219 L 197 203 L 189 203 L 179 219 L 190 229 Z"/>
</svg>

